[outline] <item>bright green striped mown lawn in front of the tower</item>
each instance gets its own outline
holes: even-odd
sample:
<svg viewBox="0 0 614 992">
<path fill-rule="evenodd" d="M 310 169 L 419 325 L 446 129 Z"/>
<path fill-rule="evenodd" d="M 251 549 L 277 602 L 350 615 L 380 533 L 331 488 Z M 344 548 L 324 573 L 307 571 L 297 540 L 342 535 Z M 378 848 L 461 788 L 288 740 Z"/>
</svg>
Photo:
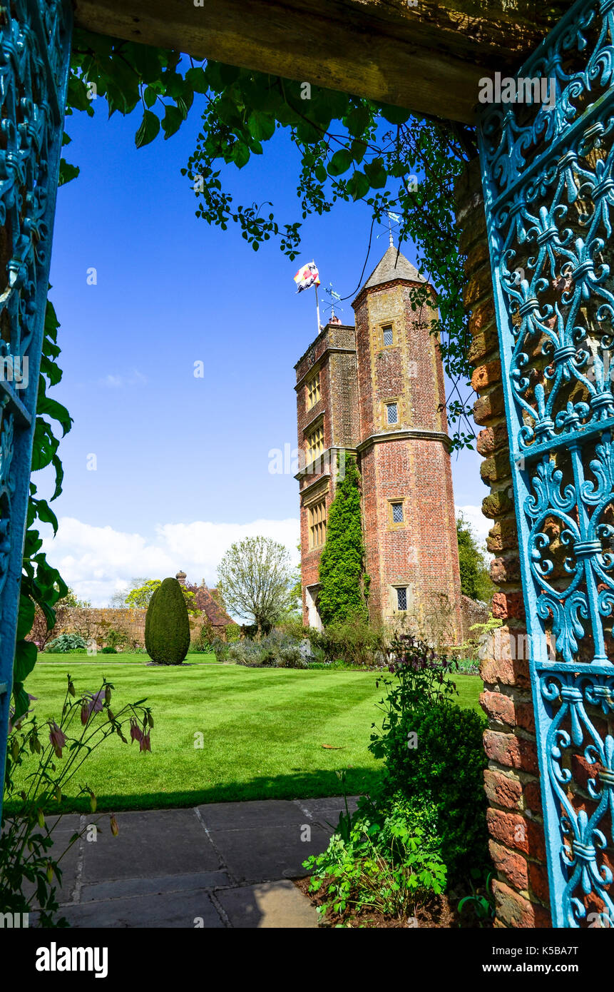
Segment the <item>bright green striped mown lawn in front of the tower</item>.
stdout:
<svg viewBox="0 0 614 992">
<path fill-rule="evenodd" d="M 371 724 L 380 719 L 375 673 L 247 669 L 202 655 L 167 669 L 146 666 L 143 655 L 119 658 L 43 655 L 27 684 L 39 719 L 60 717 L 67 672 L 77 696 L 95 691 L 105 676 L 115 686 L 116 713 L 147 697 L 152 753 L 113 737 L 78 775 L 73 794 L 86 783 L 100 810 L 337 795 L 339 770 L 347 772 L 350 793 L 377 780 L 380 763 L 367 750 Z M 479 709 L 481 680 L 455 682 L 459 704 Z M 63 811 L 87 808 L 84 800 L 62 803 Z"/>
</svg>

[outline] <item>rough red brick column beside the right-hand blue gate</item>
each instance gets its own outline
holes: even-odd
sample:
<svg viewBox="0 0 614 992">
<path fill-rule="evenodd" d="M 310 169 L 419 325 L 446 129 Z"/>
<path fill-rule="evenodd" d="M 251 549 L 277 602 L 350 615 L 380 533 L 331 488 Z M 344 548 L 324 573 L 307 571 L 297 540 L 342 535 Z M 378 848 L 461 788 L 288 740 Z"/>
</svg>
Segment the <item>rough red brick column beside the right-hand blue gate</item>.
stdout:
<svg viewBox="0 0 614 992">
<path fill-rule="evenodd" d="M 464 306 L 469 313 L 469 361 L 478 394 L 473 413 L 482 428 L 477 449 L 490 492 L 482 503 L 493 521 L 487 545 L 495 555 L 493 613 L 504 626 L 484 651 L 481 703 L 488 716 L 484 747 L 488 769 L 490 853 L 496 869 L 496 927 L 550 927 L 546 848 L 540 798 L 533 703 L 526 658 L 523 595 L 512 474 L 505 424 L 501 363 L 493 302 L 479 162 L 456 187 L 456 221 L 466 255 Z M 519 657 L 520 656 L 520 657 Z"/>
</svg>

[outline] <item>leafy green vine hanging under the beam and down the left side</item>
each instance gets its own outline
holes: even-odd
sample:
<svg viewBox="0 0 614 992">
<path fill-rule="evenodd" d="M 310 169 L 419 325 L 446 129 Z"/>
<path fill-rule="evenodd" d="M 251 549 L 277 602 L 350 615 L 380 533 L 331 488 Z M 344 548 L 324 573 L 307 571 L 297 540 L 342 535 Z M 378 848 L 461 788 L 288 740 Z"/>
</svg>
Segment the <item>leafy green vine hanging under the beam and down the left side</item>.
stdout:
<svg viewBox="0 0 614 992">
<path fill-rule="evenodd" d="M 466 318 L 462 309 L 463 259 L 454 226 L 453 186 L 465 161 L 475 154 L 468 129 L 443 121 L 417 120 L 398 107 L 380 105 L 334 90 L 292 82 L 219 62 L 193 62 L 181 53 L 135 45 L 76 30 L 73 37 L 66 117 L 76 111 L 94 113 L 103 97 L 109 115 L 129 114 L 141 106 L 135 134 L 137 147 L 162 132 L 165 140 L 182 126 L 194 94 L 204 100 L 196 147 L 183 170 L 197 197 L 196 215 L 226 229 L 236 223 L 254 250 L 271 238 L 294 259 L 300 249 L 302 221 L 311 213 L 328 212 L 334 202 L 362 200 L 372 213 L 371 234 L 388 211 L 399 215 L 399 240 L 418 247 L 419 268 L 438 295 L 436 335 L 444 368 L 454 383 L 447 411 L 453 444 L 470 445 L 466 391 L 470 369 L 466 359 Z M 69 121 L 67 122 L 69 126 Z M 273 203 L 236 205 L 222 185 L 224 166 L 242 169 L 278 130 L 290 135 L 297 153 L 297 192 L 301 219 L 280 224 Z M 70 143 L 64 134 L 63 144 Z M 60 183 L 73 180 L 79 168 L 61 160 Z M 369 238 L 369 247 L 371 237 Z M 365 259 L 365 268 L 367 265 Z M 363 272 L 364 274 L 364 272 Z M 362 279 L 362 277 L 361 277 Z M 356 287 L 356 290 L 359 287 Z M 426 286 L 414 293 L 420 308 Z M 348 294 L 348 298 L 353 294 Z M 48 386 L 61 379 L 57 359 L 58 320 L 48 303 L 33 470 L 52 464 L 56 487 L 49 502 L 61 493 L 59 438 L 70 417 L 47 396 Z M 28 708 L 24 680 L 36 662 L 36 648 L 25 638 L 32 628 L 35 604 L 48 623 L 55 622 L 54 605 L 66 587 L 57 569 L 41 551 L 37 521 L 58 527 L 49 502 L 31 483 L 24 577 L 20 600 L 15 666 L 14 705 L 18 717 Z"/>
</svg>

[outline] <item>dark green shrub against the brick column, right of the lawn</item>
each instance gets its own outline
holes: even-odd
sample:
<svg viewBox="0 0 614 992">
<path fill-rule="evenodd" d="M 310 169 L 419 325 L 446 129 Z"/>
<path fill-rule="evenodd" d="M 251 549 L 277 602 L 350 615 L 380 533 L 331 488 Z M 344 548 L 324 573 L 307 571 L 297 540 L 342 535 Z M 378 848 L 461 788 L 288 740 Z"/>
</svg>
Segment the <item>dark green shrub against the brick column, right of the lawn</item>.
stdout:
<svg viewBox="0 0 614 992">
<path fill-rule="evenodd" d="M 448 875 L 466 878 L 488 863 L 486 719 L 452 701 L 455 663 L 435 658 L 413 638 L 402 638 L 395 647 L 394 678 L 383 680 L 388 692 L 382 731 L 371 735 L 369 750 L 384 759 L 386 795 L 401 792 L 413 805 L 436 807 Z"/>
</svg>

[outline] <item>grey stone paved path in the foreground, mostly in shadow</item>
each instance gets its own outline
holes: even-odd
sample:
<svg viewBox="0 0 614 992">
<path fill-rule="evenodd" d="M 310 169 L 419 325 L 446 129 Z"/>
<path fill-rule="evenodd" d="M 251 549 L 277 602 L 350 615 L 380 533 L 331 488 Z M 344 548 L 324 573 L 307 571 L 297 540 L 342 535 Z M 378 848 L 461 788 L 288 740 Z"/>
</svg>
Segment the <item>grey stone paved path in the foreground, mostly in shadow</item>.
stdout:
<svg viewBox="0 0 614 992">
<path fill-rule="evenodd" d="M 62 858 L 61 914 L 72 927 L 315 928 L 291 879 L 342 808 L 332 797 L 122 812 L 117 837 L 104 814 L 62 816 L 59 847 L 90 821 L 100 829 Z"/>
</svg>

